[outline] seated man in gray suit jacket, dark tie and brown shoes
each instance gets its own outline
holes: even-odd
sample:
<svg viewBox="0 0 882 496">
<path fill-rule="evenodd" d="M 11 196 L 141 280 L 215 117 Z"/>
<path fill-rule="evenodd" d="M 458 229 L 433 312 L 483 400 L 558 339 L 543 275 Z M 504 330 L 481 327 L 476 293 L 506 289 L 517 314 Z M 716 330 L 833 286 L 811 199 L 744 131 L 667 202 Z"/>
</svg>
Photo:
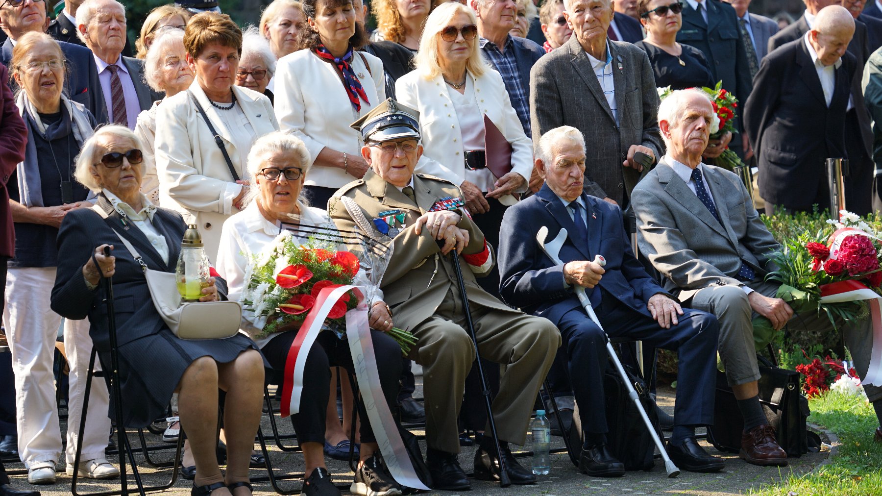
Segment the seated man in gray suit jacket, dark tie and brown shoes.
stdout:
<svg viewBox="0 0 882 496">
<path fill-rule="evenodd" d="M 794 316 L 789 304 L 775 297 L 779 285 L 764 281 L 776 268 L 768 257 L 781 245 L 759 220 L 741 180 L 728 170 L 701 163 L 713 112 L 707 95 L 695 89 L 677 91 L 662 101 L 659 127 L 668 154 L 634 188 L 632 200 L 639 249 L 664 276 L 664 289 L 720 321 L 718 349 L 744 417 L 741 458 L 783 466 L 787 455 L 759 405 L 751 324 L 752 317 L 762 315 L 777 330 Z M 817 312 L 798 315 L 793 320 L 797 323 L 830 326 L 826 315 Z M 870 324 L 862 320 L 839 326 L 862 377 L 870 364 Z M 882 388 L 864 387 L 882 411 Z"/>
</svg>

